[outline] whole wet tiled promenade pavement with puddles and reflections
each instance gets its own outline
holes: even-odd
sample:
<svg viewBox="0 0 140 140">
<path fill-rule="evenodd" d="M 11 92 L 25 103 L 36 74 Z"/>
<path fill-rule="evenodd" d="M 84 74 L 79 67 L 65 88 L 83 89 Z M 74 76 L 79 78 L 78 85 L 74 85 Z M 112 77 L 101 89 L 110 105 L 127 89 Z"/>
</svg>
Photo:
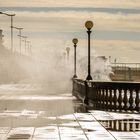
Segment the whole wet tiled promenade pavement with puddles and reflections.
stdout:
<svg viewBox="0 0 140 140">
<path fill-rule="evenodd" d="M 0 140 L 7 139 L 140 140 L 140 115 L 87 109 L 70 92 L 38 85 L 2 85 Z"/>
</svg>

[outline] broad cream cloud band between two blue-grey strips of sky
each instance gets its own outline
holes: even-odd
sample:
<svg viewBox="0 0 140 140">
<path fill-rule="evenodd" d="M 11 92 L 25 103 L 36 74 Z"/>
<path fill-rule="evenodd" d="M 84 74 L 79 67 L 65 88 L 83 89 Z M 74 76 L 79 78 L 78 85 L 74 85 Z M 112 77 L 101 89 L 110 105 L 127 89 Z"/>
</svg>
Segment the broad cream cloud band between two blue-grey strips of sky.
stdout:
<svg viewBox="0 0 140 140">
<path fill-rule="evenodd" d="M 87 11 L 17 12 L 14 24 L 19 24 L 29 31 L 74 32 L 84 28 L 84 22 L 88 19 L 95 23 L 95 30 L 140 32 L 140 14 Z M 6 20 L 7 18 L 2 22 L 6 22 Z M 7 22 L 9 21 L 7 20 Z M 32 26 L 33 24 L 34 26 Z"/>
</svg>

